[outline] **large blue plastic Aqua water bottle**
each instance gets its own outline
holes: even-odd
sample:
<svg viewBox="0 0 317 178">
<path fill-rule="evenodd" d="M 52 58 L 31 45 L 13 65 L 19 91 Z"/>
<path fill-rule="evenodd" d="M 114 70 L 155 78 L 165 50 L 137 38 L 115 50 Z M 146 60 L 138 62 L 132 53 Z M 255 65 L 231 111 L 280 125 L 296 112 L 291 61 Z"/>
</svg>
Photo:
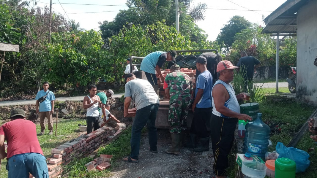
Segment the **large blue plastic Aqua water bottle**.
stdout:
<svg viewBox="0 0 317 178">
<path fill-rule="evenodd" d="M 269 138 L 270 127 L 263 123 L 262 113 L 257 113 L 256 119 L 245 125 L 243 153 L 257 155 L 264 160 Z"/>
</svg>

